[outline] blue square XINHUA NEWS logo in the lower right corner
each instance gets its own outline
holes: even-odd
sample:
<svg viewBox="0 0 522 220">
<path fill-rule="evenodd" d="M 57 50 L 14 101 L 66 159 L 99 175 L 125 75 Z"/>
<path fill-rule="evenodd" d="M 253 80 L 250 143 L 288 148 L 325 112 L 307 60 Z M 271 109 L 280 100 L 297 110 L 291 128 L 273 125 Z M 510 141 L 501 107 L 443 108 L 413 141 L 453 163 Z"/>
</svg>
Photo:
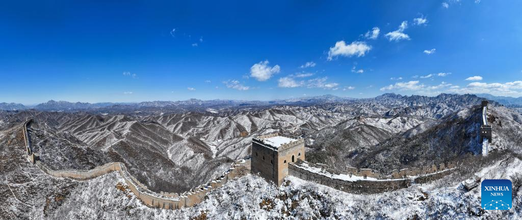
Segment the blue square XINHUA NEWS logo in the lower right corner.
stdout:
<svg viewBox="0 0 522 220">
<path fill-rule="evenodd" d="M 481 203 L 484 210 L 510 210 L 512 183 L 509 179 L 482 181 Z"/>
</svg>

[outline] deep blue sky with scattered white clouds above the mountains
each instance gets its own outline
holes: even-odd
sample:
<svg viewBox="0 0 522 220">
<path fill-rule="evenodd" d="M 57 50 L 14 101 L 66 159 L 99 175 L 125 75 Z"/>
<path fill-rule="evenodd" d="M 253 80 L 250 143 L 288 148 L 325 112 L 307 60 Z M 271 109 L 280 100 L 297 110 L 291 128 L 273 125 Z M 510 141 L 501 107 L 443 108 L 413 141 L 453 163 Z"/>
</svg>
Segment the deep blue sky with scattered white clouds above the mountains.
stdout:
<svg viewBox="0 0 522 220">
<path fill-rule="evenodd" d="M 521 1 L 0 3 L 0 102 L 522 96 Z"/>
</svg>

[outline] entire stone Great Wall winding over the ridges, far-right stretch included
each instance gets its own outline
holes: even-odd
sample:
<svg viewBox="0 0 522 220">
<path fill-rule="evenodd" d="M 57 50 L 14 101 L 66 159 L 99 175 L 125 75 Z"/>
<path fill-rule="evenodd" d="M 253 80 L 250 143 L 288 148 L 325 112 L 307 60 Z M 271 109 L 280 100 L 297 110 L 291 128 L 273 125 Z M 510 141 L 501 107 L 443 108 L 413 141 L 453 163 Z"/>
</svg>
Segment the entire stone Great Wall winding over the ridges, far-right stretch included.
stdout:
<svg viewBox="0 0 522 220">
<path fill-rule="evenodd" d="M 483 156 L 487 156 L 488 143 L 491 141 L 491 125 L 488 124 L 487 121 L 487 106 L 488 102 L 482 102 L 482 123 L 480 130 L 481 141 L 485 141 L 486 153 L 482 153 Z M 108 164 L 104 164 L 98 166 L 92 170 L 59 170 L 54 171 L 49 169 L 48 166 L 43 164 L 39 158 L 38 154 L 32 152 L 30 146 L 30 140 L 28 136 L 27 125 L 32 122 L 32 119 L 27 120 L 23 123 L 23 137 L 25 139 L 26 151 L 28 161 L 38 166 L 44 173 L 51 175 L 53 177 L 59 178 L 72 178 L 76 180 L 88 180 L 92 178 L 96 178 L 111 172 L 118 172 L 125 180 L 125 183 L 129 186 L 134 195 L 139 198 L 144 204 L 161 209 L 180 209 L 183 207 L 191 207 L 195 204 L 204 200 L 205 195 L 212 189 L 216 189 L 225 184 L 228 180 L 233 179 L 235 177 L 239 177 L 245 175 L 249 171 L 251 171 L 251 162 L 252 160 L 239 160 L 232 163 L 231 168 L 224 172 L 223 175 L 212 180 L 211 183 L 200 185 L 195 189 L 186 191 L 184 193 L 169 193 L 169 192 L 153 192 L 147 189 L 147 187 L 140 183 L 136 178 L 134 178 L 131 174 L 129 174 L 125 164 L 121 162 L 112 162 Z M 271 138 L 278 136 L 278 133 L 268 134 L 258 136 L 253 138 L 253 143 L 261 144 L 263 142 L 263 138 Z M 287 135 L 279 135 L 284 137 L 289 137 Z M 260 142 L 260 143 L 258 143 Z M 282 144 L 280 149 L 274 146 L 269 146 L 269 148 L 273 148 L 273 150 L 277 153 L 279 151 L 287 151 L 292 147 L 299 147 L 299 145 L 304 146 L 304 139 L 298 138 L 293 142 Z M 483 146 L 484 147 L 484 146 Z M 267 147 L 264 147 L 267 148 Z M 298 151 L 296 151 L 298 152 Z M 254 158 L 254 151 L 252 152 L 252 159 Z M 286 153 L 284 153 L 285 156 Z M 257 154 L 255 155 L 257 157 Z M 301 156 L 301 154 L 299 154 Z M 279 156 L 278 156 L 279 157 Z M 277 158 L 277 157 L 276 157 Z M 304 154 L 303 157 L 304 159 Z M 286 159 L 283 157 L 283 159 Z M 264 160 L 264 157 L 263 157 Z M 272 166 L 274 165 L 273 162 Z M 278 164 L 278 163 L 276 163 Z M 314 164 L 301 160 L 299 157 L 296 162 L 288 162 L 284 160 L 284 163 L 287 164 L 285 169 L 287 169 L 286 175 L 295 176 L 304 180 L 308 180 L 311 182 L 315 182 L 318 184 L 322 184 L 325 186 L 329 186 L 331 188 L 335 188 L 341 191 L 349 192 L 349 193 L 358 193 L 358 194 L 371 194 L 371 193 L 379 193 L 385 191 L 392 191 L 401 188 L 407 188 L 412 184 L 422 184 L 426 182 L 430 182 L 431 180 L 435 180 L 438 178 L 442 178 L 450 173 L 453 173 L 455 169 L 461 165 L 457 162 L 448 162 L 441 163 L 439 165 L 431 165 L 424 166 L 419 168 L 408 168 L 402 170 L 394 170 L 389 175 L 383 175 L 381 173 L 375 172 L 371 169 L 359 169 L 356 167 L 346 167 L 343 171 L 337 171 L 330 169 L 328 166 L 324 164 Z M 263 164 L 266 166 L 267 164 Z M 254 172 L 256 167 L 252 167 L 252 172 Z M 263 169 L 265 169 L 264 167 Z M 275 169 L 276 172 L 279 169 Z M 281 169 L 284 170 L 284 169 Z M 257 172 L 258 173 L 258 172 Z M 279 184 L 277 184 L 279 185 Z M 466 186 L 468 188 L 468 186 Z"/>
</svg>

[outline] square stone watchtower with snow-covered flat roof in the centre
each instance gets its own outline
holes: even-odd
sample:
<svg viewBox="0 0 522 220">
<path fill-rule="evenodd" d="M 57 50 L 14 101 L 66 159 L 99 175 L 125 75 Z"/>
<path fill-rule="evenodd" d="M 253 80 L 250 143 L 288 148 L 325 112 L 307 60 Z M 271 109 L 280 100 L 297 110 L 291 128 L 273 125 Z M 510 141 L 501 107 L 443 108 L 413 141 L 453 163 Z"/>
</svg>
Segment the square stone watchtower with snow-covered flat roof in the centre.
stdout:
<svg viewBox="0 0 522 220">
<path fill-rule="evenodd" d="M 252 173 L 280 186 L 288 163 L 304 160 L 304 139 L 279 133 L 252 138 Z"/>
</svg>

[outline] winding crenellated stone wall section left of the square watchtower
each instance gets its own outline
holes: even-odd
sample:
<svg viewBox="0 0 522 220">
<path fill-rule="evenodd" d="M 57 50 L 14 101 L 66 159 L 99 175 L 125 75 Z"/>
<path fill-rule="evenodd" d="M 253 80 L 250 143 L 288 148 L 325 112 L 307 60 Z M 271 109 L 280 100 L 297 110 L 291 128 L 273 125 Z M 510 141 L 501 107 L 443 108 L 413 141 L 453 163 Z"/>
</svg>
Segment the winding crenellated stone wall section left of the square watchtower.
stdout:
<svg viewBox="0 0 522 220">
<path fill-rule="evenodd" d="M 195 189 L 186 191 L 184 193 L 168 193 L 168 192 L 153 192 L 147 187 L 140 183 L 135 177 L 133 177 L 127 170 L 125 164 L 121 162 L 107 163 L 98 166 L 92 170 L 59 170 L 55 171 L 50 169 L 48 166 L 43 164 L 39 159 L 38 155 L 32 152 L 32 148 L 27 134 L 27 125 L 32 122 L 32 119 L 27 120 L 23 123 L 23 138 L 26 145 L 27 157 L 29 162 L 35 164 L 44 173 L 58 178 L 72 178 L 76 180 L 88 180 L 96 178 L 111 172 L 118 172 L 124 179 L 125 183 L 129 186 L 134 195 L 139 198 L 144 204 L 161 209 L 180 209 L 183 207 L 194 206 L 200 203 L 205 198 L 207 192 L 212 189 L 221 187 L 229 179 L 242 176 L 250 172 L 250 160 L 239 160 L 232 163 L 231 168 L 224 172 L 223 175 L 212 180 L 212 182 L 204 185 L 200 185 Z"/>
</svg>

